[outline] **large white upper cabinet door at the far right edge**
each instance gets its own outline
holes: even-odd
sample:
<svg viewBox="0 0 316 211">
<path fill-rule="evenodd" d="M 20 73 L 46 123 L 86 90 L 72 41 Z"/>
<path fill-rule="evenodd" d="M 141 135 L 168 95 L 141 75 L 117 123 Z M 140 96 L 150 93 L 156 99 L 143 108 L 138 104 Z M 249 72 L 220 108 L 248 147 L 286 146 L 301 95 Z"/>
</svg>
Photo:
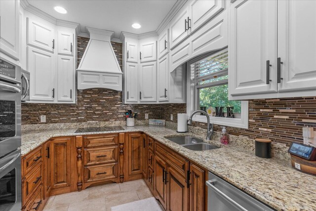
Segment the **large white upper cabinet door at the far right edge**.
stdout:
<svg viewBox="0 0 316 211">
<path fill-rule="evenodd" d="M 279 91 L 316 88 L 315 0 L 278 1 L 277 52 Z"/>
</svg>

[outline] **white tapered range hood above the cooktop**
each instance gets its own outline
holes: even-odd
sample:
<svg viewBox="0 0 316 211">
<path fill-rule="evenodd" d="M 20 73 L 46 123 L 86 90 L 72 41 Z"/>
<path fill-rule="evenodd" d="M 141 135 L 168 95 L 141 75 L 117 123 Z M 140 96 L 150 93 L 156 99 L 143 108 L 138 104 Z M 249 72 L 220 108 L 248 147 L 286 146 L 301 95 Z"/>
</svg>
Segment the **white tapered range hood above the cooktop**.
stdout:
<svg viewBox="0 0 316 211">
<path fill-rule="evenodd" d="M 122 90 L 122 71 L 111 45 L 114 32 L 87 27 L 90 40 L 79 67 L 78 89 L 110 88 Z"/>
</svg>

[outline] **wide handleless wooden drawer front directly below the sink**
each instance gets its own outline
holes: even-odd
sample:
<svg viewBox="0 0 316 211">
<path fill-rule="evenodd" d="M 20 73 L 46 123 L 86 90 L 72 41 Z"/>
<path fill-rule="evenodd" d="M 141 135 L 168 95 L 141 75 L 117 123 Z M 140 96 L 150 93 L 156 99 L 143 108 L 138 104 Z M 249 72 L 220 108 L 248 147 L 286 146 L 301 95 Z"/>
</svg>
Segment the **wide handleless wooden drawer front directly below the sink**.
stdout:
<svg viewBox="0 0 316 211">
<path fill-rule="evenodd" d="M 174 167 L 177 171 L 179 171 L 182 177 L 186 177 L 186 172 L 189 170 L 189 161 L 184 159 L 182 156 L 178 155 L 177 153 L 173 152 L 166 146 L 155 142 L 156 144 L 156 151 L 155 153 L 158 154 L 161 158 L 165 158 L 167 163 Z"/>
</svg>

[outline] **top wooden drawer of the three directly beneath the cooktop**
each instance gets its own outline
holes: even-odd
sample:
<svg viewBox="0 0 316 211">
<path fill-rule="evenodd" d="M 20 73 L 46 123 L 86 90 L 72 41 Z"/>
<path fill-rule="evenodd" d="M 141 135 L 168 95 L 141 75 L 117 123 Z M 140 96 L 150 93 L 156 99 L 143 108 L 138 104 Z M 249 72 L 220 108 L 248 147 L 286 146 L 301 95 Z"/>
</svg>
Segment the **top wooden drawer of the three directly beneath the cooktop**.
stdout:
<svg viewBox="0 0 316 211">
<path fill-rule="evenodd" d="M 83 137 L 84 147 L 99 147 L 118 144 L 118 134 L 91 135 Z"/>
</svg>

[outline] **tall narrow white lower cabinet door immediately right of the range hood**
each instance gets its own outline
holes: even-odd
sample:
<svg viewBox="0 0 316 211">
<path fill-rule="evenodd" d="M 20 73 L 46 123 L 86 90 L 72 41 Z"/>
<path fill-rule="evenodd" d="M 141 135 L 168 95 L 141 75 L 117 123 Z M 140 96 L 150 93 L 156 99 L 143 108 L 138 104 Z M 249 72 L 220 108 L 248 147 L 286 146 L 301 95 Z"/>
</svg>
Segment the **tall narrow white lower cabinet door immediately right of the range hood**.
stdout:
<svg viewBox="0 0 316 211">
<path fill-rule="evenodd" d="M 125 71 L 125 101 L 138 102 L 138 65 L 126 63 Z"/>
</svg>

